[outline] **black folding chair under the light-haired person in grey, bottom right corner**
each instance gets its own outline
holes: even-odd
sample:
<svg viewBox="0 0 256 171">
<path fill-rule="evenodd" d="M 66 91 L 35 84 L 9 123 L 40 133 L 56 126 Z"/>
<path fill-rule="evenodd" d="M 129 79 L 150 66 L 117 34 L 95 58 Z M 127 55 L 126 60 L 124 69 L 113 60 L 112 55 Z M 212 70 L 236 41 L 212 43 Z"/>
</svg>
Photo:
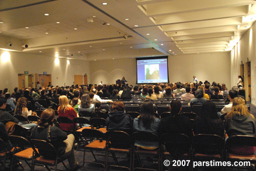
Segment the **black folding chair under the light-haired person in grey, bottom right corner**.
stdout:
<svg viewBox="0 0 256 171">
<path fill-rule="evenodd" d="M 226 160 L 227 161 L 249 161 L 250 163 L 254 163 L 256 165 L 256 156 L 255 154 L 251 155 L 236 155 L 232 154 L 230 152 L 230 147 L 248 147 L 248 146 L 256 146 L 256 137 L 255 136 L 249 136 L 249 135 L 234 135 L 231 137 L 228 137 L 226 140 Z"/>
</svg>

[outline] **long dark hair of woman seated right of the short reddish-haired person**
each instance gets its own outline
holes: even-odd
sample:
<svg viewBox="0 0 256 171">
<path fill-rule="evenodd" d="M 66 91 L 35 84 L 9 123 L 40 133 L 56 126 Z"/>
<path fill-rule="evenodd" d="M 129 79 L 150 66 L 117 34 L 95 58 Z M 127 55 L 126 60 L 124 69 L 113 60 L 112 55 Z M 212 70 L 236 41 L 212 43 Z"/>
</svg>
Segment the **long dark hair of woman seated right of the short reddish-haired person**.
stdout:
<svg viewBox="0 0 256 171">
<path fill-rule="evenodd" d="M 143 102 L 141 106 L 140 117 L 138 125 L 140 126 L 141 122 L 146 129 L 149 129 L 152 124 L 154 124 L 155 115 L 154 115 L 154 106 L 150 100 Z"/>
</svg>

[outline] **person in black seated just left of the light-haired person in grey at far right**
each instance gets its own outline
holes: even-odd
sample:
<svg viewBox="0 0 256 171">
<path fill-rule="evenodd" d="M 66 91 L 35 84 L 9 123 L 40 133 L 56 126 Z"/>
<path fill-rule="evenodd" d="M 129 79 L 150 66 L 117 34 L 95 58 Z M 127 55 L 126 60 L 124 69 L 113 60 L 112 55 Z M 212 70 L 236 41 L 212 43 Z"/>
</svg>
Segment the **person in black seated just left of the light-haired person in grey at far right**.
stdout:
<svg viewBox="0 0 256 171">
<path fill-rule="evenodd" d="M 217 108 L 212 101 L 202 105 L 201 115 L 194 121 L 195 134 L 216 134 L 224 137 L 224 123 L 217 113 Z"/>
</svg>

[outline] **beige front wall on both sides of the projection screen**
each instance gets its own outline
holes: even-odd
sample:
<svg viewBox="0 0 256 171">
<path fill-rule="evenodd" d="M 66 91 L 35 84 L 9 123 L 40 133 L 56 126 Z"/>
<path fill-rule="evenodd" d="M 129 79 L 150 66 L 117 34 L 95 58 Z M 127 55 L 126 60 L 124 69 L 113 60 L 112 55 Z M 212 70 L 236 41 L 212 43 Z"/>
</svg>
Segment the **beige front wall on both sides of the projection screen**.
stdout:
<svg viewBox="0 0 256 171">
<path fill-rule="evenodd" d="M 230 89 L 229 53 L 169 56 L 169 81 L 193 82 L 208 80 L 225 83 Z M 90 62 L 91 83 L 113 84 L 124 76 L 127 83 L 136 84 L 136 59 L 97 60 Z"/>
</svg>

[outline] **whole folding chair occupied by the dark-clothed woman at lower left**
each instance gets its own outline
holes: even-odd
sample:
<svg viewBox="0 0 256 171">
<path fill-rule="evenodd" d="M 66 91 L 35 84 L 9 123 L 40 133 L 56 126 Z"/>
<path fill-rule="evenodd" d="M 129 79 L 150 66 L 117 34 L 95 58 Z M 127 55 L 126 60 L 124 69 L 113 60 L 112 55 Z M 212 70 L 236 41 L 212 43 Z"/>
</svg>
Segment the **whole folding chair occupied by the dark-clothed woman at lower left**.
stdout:
<svg viewBox="0 0 256 171">
<path fill-rule="evenodd" d="M 47 169 L 50 170 L 48 165 L 55 166 L 55 171 L 57 170 L 57 164 L 62 163 L 63 166 L 69 171 L 66 164 L 63 162 L 61 157 L 58 155 L 58 152 L 54 148 L 54 146 L 41 139 L 31 139 L 30 142 L 34 146 L 34 149 L 38 149 L 39 157 L 36 157 L 37 151 L 34 150 L 33 158 L 32 158 L 32 171 L 34 170 L 35 164 L 42 164 L 47 166 Z M 47 154 L 47 156 L 45 156 Z"/>
</svg>

